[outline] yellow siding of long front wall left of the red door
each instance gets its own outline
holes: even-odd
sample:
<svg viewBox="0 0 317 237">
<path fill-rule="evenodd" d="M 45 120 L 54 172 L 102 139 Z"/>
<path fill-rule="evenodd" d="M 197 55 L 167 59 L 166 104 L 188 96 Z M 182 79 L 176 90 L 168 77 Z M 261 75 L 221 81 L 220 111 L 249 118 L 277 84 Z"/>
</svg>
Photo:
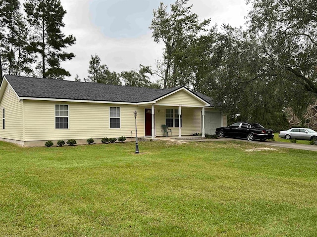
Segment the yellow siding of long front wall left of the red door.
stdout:
<svg viewBox="0 0 317 237">
<path fill-rule="evenodd" d="M 55 105 L 67 104 L 69 129 L 55 129 Z M 110 128 L 109 107 L 120 107 L 120 128 Z M 144 109 L 134 105 L 66 103 L 25 100 L 25 141 L 135 136 L 133 111 L 137 110 L 138 136 L 144 136 Z"/>
</svg>

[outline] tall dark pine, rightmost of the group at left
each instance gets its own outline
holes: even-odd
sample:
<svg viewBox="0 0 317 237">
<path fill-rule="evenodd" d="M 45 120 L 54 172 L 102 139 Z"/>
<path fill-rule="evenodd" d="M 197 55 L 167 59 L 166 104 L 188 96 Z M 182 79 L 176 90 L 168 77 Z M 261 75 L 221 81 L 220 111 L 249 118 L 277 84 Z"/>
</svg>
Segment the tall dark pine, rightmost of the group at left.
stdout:
<svg viewBox="0 0 317 237">
<path fill-rule="evenodd" d="M 27 21 L 32 29 L 31 51 L 40 56 L 37 66 L 43 78 L 63 79 L 70 73 L 60 67 L 60 62 L 72 59 L 75 55 L 65 48 L 75 43 L 72 35 L 65 36 L 61 28 L 65 26 L 63 17 L 66 11 L 60 0 L 26 0 L 24 3 Z"/>
</svg>

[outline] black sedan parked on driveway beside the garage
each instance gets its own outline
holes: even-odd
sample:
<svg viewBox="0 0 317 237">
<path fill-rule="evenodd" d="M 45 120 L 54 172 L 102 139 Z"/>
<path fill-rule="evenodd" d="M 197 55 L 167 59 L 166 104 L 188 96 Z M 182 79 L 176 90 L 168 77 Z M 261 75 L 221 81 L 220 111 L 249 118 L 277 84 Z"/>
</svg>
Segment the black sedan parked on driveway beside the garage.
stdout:
<svg viewBox="0 0 317 237">
<path fill-rule="evenodd" d="M 218 137 L 247 138 L 249 141 L 260 139 L 263 142 L 274 137 L 272 129 L 264 128 L 259 123 L 249 122 L 235 122 L 228 127 L 218 127 L 216 134 Z"/>
</svg>

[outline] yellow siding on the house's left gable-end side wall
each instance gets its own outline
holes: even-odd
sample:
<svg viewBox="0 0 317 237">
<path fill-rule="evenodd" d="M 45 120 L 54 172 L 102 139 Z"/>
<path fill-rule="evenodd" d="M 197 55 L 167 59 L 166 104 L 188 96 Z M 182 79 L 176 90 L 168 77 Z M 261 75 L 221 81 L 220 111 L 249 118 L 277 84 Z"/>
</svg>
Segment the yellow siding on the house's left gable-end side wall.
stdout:
<svg viewBox="0 0 317 237">
<path fill-rule="evenodd" d="M 0 102 L 0 138 L 23 141 L 23 102 L 12 88 L 8 91 L 8 86 L 7 84 Z M 2 129 L 2 109 L 5 114 L 5 129 Z"/>
</svg>

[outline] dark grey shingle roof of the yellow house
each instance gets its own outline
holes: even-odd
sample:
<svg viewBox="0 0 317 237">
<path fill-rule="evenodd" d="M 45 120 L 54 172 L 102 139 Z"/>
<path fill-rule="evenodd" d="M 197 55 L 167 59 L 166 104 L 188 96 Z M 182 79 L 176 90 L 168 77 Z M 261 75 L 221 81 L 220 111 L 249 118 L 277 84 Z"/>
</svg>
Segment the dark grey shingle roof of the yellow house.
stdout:
<svg viewBox="0 0 317 237">
<path fill-rule="evenodd" d="M 12 75 L 5 75 L 4 77 L 19 97 L 35 98 L 138 103 L 154 101 L 181 88 L 153 89 Z M 207 102 L 211 101 L 211 98 L 206 95 L 198 92 L 193 93 Z"/>
</svg>

